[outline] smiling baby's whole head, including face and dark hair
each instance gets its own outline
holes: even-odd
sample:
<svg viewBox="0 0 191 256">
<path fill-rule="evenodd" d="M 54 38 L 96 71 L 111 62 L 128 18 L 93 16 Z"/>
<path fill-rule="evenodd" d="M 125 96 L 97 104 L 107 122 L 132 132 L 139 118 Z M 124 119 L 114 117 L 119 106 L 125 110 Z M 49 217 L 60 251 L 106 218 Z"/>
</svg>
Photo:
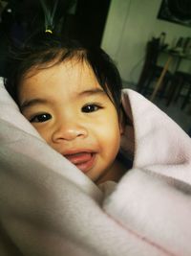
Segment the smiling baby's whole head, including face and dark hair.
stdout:
<svg viewBox="0 0 191 256">
<path fill-rule="evenodd" d="M 14 56 L 6 88 L 47 143 L 93 181 L 119 150 L 121 80 L 101 49 L 55 35 Z"/>
</svg>

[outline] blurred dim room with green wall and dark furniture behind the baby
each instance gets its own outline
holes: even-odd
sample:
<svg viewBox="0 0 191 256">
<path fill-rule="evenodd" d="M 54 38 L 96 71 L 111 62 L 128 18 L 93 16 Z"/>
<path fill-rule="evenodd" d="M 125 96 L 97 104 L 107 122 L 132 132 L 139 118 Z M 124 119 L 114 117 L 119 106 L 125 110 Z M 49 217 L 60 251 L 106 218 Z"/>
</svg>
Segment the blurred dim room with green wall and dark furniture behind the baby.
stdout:
<svg viewBox="0 0 191 256">
<path fill-rule="evenodd" d="M 103 48 L 132 88 L 191 133 L 190 0 L 0 0 L 0 76 L 9 41 L 41 30 L 45 9 L 54 30 Z"/>
</svg>

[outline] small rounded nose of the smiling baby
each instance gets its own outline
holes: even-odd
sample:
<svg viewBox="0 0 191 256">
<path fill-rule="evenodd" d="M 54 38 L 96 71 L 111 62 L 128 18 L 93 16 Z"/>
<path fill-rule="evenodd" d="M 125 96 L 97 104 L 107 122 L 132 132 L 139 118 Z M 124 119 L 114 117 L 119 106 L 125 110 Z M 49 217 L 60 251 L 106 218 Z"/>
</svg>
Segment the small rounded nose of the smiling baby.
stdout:
<svg viewBox="0 0 191 256">
<path fill-rule="evenodd" d="M 53 130 L 53 143 L 59 143 L 60 141 L 72 141 L 76 138 L 85 138 L 88 135 L 88 130 L 76 122 L 66 122 L 57 124 Z"/>
</svg>

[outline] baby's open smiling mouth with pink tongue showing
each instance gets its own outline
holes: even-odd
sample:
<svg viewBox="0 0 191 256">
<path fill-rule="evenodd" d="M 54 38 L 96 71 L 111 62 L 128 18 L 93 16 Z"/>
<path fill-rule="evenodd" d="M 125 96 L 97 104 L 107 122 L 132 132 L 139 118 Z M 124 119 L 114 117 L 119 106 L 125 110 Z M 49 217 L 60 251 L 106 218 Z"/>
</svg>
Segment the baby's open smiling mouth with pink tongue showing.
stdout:
<svg viewBox="0 0 191 256">
<path fill-rule="evenodd" d="M 64 156 L 79 170 L 86 174 L 94 166 L 96 153 L 81 151 L 76 153 L 64 154 Z"/>
</svg>

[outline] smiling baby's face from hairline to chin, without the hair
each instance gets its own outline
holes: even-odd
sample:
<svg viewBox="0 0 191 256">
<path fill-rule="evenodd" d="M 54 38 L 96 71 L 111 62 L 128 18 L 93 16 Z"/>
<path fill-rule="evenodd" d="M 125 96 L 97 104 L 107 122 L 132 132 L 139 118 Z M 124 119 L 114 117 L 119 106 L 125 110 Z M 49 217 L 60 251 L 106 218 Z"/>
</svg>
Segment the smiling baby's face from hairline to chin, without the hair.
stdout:
<svg viewBox="0 0 191 256">
<path fill-rule="evenodd" d="M 19 87 L 23 115 L 55 151 L 96 182 L 119 149 L 115 106 L 85 62 L 70 60 L 34 72 Z"/>
</svg>

